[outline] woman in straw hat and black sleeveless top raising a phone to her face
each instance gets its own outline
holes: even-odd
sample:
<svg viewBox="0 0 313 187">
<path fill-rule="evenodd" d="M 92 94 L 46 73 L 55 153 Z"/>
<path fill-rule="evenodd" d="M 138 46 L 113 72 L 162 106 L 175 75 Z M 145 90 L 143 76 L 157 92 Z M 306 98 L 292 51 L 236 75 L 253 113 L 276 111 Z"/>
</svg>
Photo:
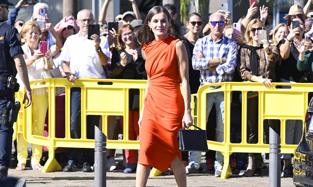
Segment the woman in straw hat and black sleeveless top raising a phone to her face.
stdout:
<svg viewBox="0 0 313 187">
<path fill-rule="evenodd" d="M 303 12 L 301 7 L 297 5 L 293 5 L 290 7 L 294 9 L 297 7 L 298 12 Z M 289 11 L 290 12 L 290 11 Z M 297 83 L 300 82 L 305 71 L 299 71 L 297 69 L 297 61 L 300 55 L 299 50 L 295 46 L 295 43 L 300 43 L 304 30 L 305 30 L 305 15 L 304 14 L 296 14 L 290 15 L 288 14 L 284 19 L 288 20 L 288 29 L 289 34 L 284 40 L 281 40 L 278 43 L 278 47 L 280 49 L 280 56 L 282 58 L 281 63 L 279 65 L 279 75 L 280 82 L 283 83 Z M 282 88 L 291 88 L 290 86 L 281 86 Z M 302 124 L 301 120 L 287 120 L 286 121 L 286 144 L 298 144 L 301 136 L 302 136 Z M 284 168 L 281 174 L 282 177 L 292 177 L 293 176 L 293 167 L 291 165 L 291 154 L 282 154 L 284 159 Z"/>
</svg>

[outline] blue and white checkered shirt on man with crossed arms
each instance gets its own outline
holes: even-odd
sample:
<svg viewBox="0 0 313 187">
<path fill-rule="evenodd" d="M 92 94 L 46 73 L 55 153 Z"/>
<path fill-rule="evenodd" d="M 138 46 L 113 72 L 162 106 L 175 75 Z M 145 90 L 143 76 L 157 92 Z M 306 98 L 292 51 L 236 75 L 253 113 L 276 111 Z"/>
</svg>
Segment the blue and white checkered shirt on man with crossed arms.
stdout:
<svg viewBox="0 0 313 187">
<path fill-rule="evenodd" d="M 195 53 L 201 52 L 205 59 L 200 59 L 195 56 Z M 209 60 L 215 58 L 226 58 L 224 64 L 216 65 L 216 71 L 208 70 Z M 200 83 L 220 83 L 233 80 L 233 72 L 236 69 L 237 46 L 236 43 L 225 37 L 214 41 L 211 34 L 197 40 L 192 54 L 192 67 L 194 70 L 200 70 Z"/>
</svg>

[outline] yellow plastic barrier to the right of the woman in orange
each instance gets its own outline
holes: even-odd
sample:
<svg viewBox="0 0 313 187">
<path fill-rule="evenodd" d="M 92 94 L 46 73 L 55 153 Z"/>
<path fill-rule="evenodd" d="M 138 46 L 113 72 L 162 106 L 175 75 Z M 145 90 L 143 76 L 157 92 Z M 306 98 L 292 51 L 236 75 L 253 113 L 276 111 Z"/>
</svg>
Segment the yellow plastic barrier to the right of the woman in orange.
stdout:
<svg viewBox="0 0 313 187">
<path fill-rule="evenodd" d="M 290 89 L 278 89 L 278 85 L 290 85 Z M 220 89 L 210 89 L 210 86 L 221 86 Z M 241 83 L 224 82 L 218 84 L 203 85 L 198 90 L 198 113 L 195 115 L 198 119 L 198 126 L 206 129 L 206 95 L 213 92 L 224 93 L 224 141 L 208 141 L 210 150 L 220 151 L 224 155 L 224 166 L 221 178 L 227 178 L 231 175 L 229 156 L 233 152 L 246 153 L 269 153 L 269 144 L 263 141 L 263 121 L 265 119 L 279 119 L 281 121 L 281 153 L 293 153 L 296 145 L 287 145 L 285 143 L 285 122 L 289 119 L 298 119 L 304 121 L 306 108 L 308 106 L 308 93 L 312 91 L 313 84 L 285 84 L 273 83 L 270 89 L 267 89 L 260 83 Z M 230 141 L 230 105 L 231 92 L 242 92 L 242 141 L 241 143 L 231 143 Z M 247 92 L 259 92 L 259 126 L 258 143 L 247 143 Z"/>
</svg>

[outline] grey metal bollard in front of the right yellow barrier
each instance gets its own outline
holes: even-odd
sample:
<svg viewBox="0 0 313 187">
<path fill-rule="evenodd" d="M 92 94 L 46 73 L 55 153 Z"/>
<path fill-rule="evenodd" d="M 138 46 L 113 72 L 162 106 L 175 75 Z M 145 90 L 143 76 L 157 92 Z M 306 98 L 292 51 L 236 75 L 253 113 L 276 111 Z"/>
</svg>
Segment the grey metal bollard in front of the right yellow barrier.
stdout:
<svg viewBox="0 0 313 187">
<path fill-rule="evenodd" d="M 279 125 L 269 120 L 269 187 L 280 186 Z M 271 123 L 273 122 L 273 123 Z"/>
</svg>

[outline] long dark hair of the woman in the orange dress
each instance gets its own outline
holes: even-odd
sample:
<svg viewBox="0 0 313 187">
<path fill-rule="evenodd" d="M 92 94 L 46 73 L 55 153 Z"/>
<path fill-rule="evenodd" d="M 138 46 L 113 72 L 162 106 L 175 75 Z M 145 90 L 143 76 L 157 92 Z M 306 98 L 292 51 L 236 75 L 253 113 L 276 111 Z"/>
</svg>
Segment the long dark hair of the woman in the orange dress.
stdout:
<svg viewBox="0 0 313 187">
<path fill-rule="evenodd" d="M 142 47 L 144 44 L 148 44 L 151 41 L 155 40 L 153 32 L 150 31 L 148 22 L 151 22 L 151 19 L 154 15 L 162 13 L 162 12 L 164 12 L 166 14 L 169 26 L 171 26 L 171 23 L 170 23 L 171 16 L 170 16 L 170 13 L 167 11 L 166 8 L 164 8 L 162 6 L 152 7 L 146 16 L 146 20 L 143 23 L 143 25 L 137 31 L 135 31 L 133 34 L 134 42 L 138 46 Z M 167 29 L 167 33 L 172 36 L 171 29 Z"/>
</svg>

